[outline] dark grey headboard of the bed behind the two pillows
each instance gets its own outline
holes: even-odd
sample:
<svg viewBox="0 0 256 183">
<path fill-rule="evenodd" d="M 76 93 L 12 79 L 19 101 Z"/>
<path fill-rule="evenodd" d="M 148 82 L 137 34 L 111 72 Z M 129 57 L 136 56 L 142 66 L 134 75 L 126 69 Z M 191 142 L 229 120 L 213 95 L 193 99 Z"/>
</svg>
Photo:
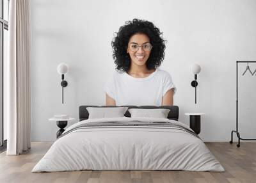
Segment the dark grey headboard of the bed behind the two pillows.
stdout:
<svg viewBox="0 0 256 183">
<path fill-rule="evenodd" d="M 87 120 L 89 117 L 89 113 L 86 107 L 124 107 L 124 106 L 79 106 L 79 121 Z M 179 107 L 178 106 L 125 106 L 131 108 L 140 108 L 140 109 L 170 109 L 168 113 L 168 119 L 170 120 L 179 120 Z M 127 110 L 124 114 L 126 117 L 131 117 L 131 114 Z"/>
</svg>

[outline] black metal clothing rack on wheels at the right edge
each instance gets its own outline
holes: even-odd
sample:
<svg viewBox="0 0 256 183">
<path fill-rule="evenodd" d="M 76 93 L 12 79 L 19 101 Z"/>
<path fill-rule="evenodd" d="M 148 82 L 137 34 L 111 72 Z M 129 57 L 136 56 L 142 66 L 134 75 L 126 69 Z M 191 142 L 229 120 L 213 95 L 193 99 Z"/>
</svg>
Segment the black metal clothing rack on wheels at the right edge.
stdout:
<svg viewBox="0 0 256 183">
<path fill-rule="evenodd" d="M 229 142 L 233 143 L 233 132 L 235 132 L 238 138 L 238 144 L 236 145 L 237 147 L 240 147 L 240 140 L 256 140 L 256 139 L 241 138 L 238 131 L 238 64 L 239 63 L 256 63 L 256 61 L 236 61 L 236 131 L 231 132 L 231 140 Z"/>
</svg>

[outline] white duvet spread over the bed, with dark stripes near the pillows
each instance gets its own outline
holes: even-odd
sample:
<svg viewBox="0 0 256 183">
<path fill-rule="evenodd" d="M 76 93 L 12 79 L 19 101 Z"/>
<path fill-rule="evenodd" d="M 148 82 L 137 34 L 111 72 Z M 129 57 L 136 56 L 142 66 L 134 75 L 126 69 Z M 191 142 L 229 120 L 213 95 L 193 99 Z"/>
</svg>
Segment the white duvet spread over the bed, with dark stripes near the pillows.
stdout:
<svg viewBox="0 0 256 183">
<path fill-rule="evenodd" d="M 172 122 L 163 118 L 102 118 L 93 122 Z M 65 134 L 65 132 L 63 134 Z M 32 172 L 72 170 L 225 171 L 204 142 L 168 127 L 95 127 L 77 129 L 57 139 Z"/>
</svg>

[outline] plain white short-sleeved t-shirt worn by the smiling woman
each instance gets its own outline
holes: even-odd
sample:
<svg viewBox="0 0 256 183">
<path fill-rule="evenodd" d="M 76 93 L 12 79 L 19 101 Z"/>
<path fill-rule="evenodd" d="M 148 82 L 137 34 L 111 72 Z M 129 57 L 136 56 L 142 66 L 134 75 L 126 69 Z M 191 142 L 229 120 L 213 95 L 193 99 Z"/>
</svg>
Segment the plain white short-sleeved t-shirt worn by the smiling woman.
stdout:
<svg viewBox="0 0 256 183">
<path fill-rule="evenodd" d="M 105 84 L 104 91 L 115 99 L 116 106 L 161 106 L 162 97 L 171 88 L 175 93 L 177 88 L 170 74 L 157 68 L 143 78 L 115 71 Z"/>
</svg>

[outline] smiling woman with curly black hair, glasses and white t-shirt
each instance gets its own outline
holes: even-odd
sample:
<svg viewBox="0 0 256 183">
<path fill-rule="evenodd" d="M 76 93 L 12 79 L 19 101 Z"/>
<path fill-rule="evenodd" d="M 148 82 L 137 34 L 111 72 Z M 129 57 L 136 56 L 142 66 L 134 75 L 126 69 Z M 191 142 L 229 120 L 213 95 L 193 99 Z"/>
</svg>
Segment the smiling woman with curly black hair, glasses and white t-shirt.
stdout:
<svg viewBox="0 0 256 183">
<path fill-rule="evenodd" d="M 125 22 L 112 47 L 116 72 L 104 87 L 107 106 L 173 105 L 172 77 L 157 68 L 164 60 L 164 40 L 152 22 Z"/>
</svg>

